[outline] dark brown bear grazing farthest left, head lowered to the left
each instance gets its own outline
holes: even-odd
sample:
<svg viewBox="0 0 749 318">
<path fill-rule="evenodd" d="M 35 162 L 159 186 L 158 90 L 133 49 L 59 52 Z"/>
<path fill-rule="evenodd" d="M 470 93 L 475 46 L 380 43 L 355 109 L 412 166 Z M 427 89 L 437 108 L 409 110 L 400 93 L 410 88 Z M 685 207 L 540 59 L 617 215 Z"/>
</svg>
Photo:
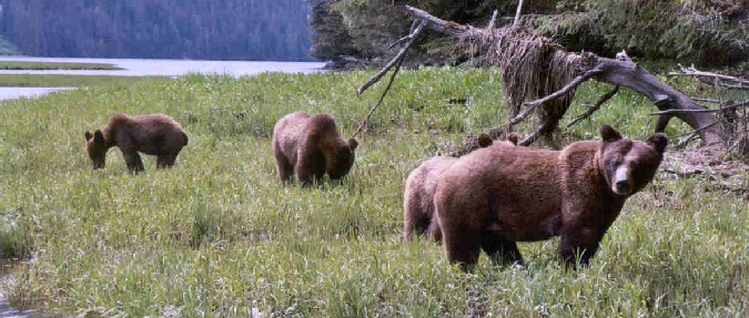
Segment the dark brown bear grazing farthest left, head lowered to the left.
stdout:
<svg viewBox="0 0 749 318">
<path fill-rule="evenodd" d="M 112 116 L 103 130 L 85 132 L 85 148 L 93 161 L 93 168 L 104 167 L 107 151 L 118 146 L 130 172 L 143 171 L 142 152 L 156 156 L 156 167 L 170 167 L 176 155 L 188 144 L 188 134 L 172 117 L 164 114 Z"/>
</svg>

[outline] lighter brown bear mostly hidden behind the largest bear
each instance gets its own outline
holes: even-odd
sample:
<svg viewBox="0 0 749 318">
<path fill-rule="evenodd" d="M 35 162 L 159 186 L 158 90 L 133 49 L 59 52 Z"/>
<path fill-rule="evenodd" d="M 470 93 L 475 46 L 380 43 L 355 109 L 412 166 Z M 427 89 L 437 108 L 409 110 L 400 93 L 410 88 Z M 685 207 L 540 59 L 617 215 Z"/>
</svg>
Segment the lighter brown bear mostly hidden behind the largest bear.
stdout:
<svg viewBox="0 0 749 318">
<path fill-rule="evenodd" d="M 478 136 L 478 146 L 492 145 L 492 137 L 487 134 Z M 507 141 L 495 145 L 514 146 L 517 135 L 510 134 Z M 406 179 L 406 189 L 403 197 L 403 234 L 407 242 L 413 240 L 415 234 L 426 234 L 428 239 L 442 242 L 442 232 L 434 214 L 434 192 L 442 173 L 457 158 L 452 156 L 436 156 L 425 161 L 411 172 Z"/>
</svg>

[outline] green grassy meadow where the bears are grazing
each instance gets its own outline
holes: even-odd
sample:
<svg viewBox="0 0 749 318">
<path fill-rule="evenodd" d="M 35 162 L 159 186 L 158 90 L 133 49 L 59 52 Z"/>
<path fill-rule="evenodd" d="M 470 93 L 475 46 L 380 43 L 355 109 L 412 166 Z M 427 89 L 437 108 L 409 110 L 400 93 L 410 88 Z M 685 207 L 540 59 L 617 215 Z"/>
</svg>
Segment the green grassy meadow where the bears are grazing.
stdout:
<svg viewBox="0 0 749 318">
<path fill-rule="evenodd" d="M 81 317 L 749 315 L 748 198 L 708 179 L 659 173 L 580 270 L 557 261 L 558 239 L 520 244 L 525 266 L 484 255 L 474 274 L 441 246 L 404 243 L 407 174 L 507 119 L 496 70 L 403 71 L 342 184 L 283 186 L 275 122 L 328 112 L 351 136 L 384 88 L 356 96 L 372 74 L 189 75 L 0 102 L 0 247 L 30 259 L 2 295 Z M 565 123 L 607 90 L 583 85 Z M 591 120 L 563 123 L 555 143 L 594 139 L 603 123 L 646 139 L 654 110 L 623 90 Z M 146 171 L 129 174 L 114 148 L 92 171 L 83 133 L 117 112 L 181 122 L 190 143 L 176 166 L 155 171 L 144 156 Z M 667 131 L 685 132 L 677 121 Z"/>
</svg>

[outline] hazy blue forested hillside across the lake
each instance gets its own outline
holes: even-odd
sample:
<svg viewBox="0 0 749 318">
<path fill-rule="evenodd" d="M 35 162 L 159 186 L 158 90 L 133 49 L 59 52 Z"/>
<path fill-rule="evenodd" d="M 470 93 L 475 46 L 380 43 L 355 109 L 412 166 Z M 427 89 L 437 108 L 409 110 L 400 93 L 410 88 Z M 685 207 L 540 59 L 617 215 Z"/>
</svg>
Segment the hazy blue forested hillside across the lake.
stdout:
<svg viewBox="0 0 749 318">
<path fill-rule="evenodd" d="M 304 0 L 0 0 L 0 37 L 36 57 L 310 60 Z"/>
</svg>

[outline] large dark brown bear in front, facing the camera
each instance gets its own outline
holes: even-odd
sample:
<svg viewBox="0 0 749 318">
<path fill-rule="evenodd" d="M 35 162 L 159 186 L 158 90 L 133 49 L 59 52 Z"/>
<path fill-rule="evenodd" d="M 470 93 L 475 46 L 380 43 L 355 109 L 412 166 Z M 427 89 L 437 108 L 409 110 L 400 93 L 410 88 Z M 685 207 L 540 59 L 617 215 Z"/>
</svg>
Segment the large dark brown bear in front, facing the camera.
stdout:
<svg viewBox="0 0 749 318">
<path fill-rule="evenodd" d="M 627 197 L 652 179 L 667 143 L 661 133 L 630 141 L 609 125 L 600 135 L 561 151 L 480 148 L 451 165 L 434 199 L 449 263 L 470 270 L 480 249 L 523 263 L 516 242 L 561 236 L 565 264 L 587 265 Z"/>
</svg>

